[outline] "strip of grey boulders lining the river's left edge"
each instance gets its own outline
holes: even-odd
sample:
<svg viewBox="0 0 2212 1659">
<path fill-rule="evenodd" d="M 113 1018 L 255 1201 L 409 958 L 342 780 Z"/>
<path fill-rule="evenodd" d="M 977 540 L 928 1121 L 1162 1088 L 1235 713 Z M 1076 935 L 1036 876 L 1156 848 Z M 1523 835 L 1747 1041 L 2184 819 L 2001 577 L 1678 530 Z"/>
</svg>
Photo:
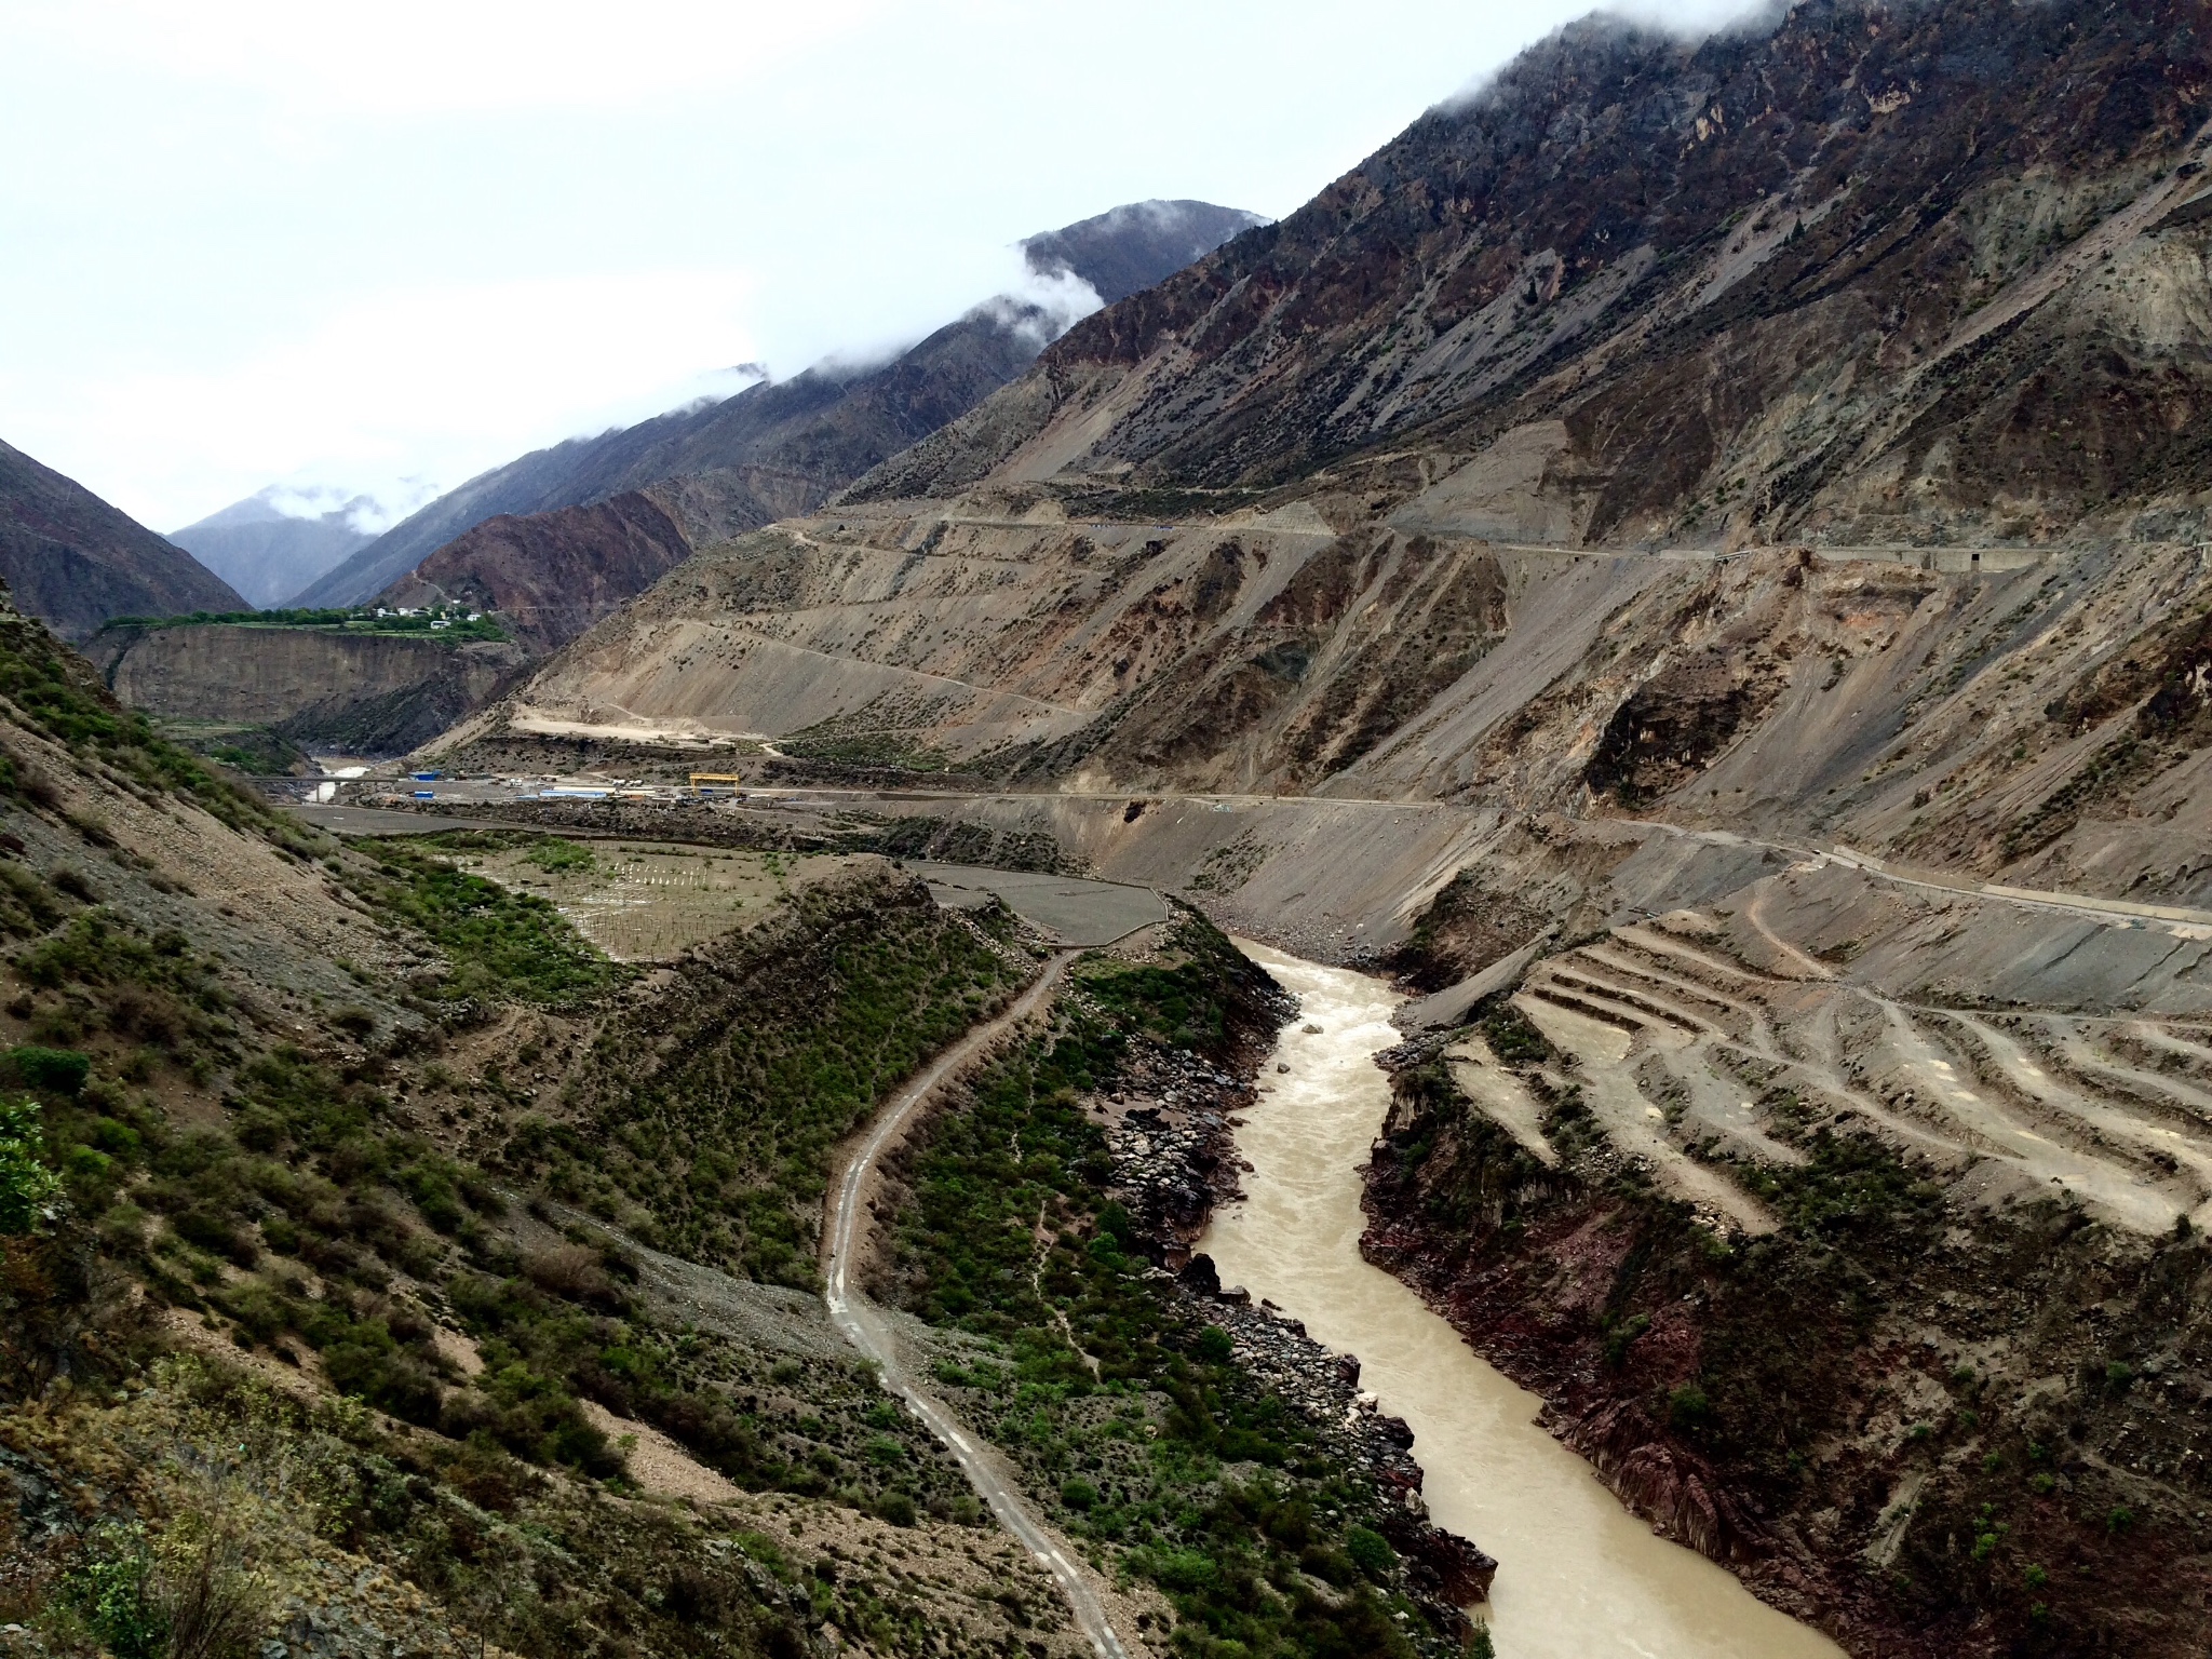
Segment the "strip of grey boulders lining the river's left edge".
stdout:
<svg viewBox="0 0 2212 1659">
<path fill-rule="evenodd" d="M 1449 1628 L 1458 1608 L 1489 1595 L 1498 1562 L 1429 1522 L 1413 1431 L 1360 1389 L 1356 1354 L 1334 1354 L 1274 1303 L 1254 1305 L 1250 1292 L 1221 1283 L 1210 1256 L 1190 1252 L 1212 1206 L 1241 1197 L 1237 1175 L 1248 1166 L 1237 1157 L 1234 1110 L 1250 1104 L 1252 1084 L 1150 1044 L 1130 1053 L 1119 1084 L 1091 1110 L 1113 1155 L 1108 1190 L 1161 1263 L 1157 1272 L 1172 1272 L 1177 1290 L 1228 1332 L 1237 1363 L 1305 1418 L 1334 1460 L 1374 1484 L 1385 1537 Z"/>
</svg>

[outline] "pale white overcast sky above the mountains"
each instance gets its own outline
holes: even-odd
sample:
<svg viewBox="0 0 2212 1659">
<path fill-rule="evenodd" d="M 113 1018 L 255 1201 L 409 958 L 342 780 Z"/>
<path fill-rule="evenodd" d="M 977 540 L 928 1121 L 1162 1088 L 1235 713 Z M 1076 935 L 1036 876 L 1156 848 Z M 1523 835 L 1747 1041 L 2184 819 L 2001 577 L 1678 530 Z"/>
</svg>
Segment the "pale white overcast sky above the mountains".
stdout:
<svg viewBox="0 0 2212 1659">
<path fill-rule="evenodd" d="M 164 531 L 447 489 L 1117 201 L 1281 217 L 1586 9 L 4 0 L 0 438 Z"/>
</svg>

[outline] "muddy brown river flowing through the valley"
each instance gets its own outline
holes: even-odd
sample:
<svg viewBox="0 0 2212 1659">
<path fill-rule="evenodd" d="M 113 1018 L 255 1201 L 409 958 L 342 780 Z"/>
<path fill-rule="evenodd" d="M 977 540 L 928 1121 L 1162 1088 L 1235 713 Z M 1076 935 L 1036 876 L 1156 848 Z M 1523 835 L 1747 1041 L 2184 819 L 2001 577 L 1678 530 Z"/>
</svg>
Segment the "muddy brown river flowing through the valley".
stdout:
<svg viewBox="0 0 2212 1659">
<path fill-rule="evenodd" d="M 1413 1427 L 1429 1513 L 1498 1557 L 1486 1617 L 1500 1659 L 1838 1659 L 1834 1641 L 1723 1568 L 1655 1537 L 1590 1467 L 1535 1427 L 1537 1398 L 1475 1358 L 1438 1314 L 1360 1259 L 1360 1166 L 1400 1033 L 1398 998 L 1363 973 L 1243 945 L 1301 1000 L 1237 1133 L 1245 1201 L 1199 1245 L 1245 1285 L 1360 1356 L 1360 1385 Z M 1318 1035 L 1303 1026 L 1321 1026 Z"/>
</svg>

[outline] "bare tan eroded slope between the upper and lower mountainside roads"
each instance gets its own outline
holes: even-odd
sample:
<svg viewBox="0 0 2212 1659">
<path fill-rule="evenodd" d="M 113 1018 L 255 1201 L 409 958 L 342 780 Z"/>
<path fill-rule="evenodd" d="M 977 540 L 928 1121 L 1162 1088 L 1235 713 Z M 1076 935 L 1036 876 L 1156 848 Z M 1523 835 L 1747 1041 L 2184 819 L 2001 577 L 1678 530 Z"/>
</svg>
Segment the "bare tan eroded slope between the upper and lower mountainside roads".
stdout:
<svg viewBox="0 0 2212 1659">
<path fill-rule="evenodd" d="M 2203 902 L 2208 606 L 2194 544 L 1568 553 L 991 489 L 708 549 L 493 723 L 872 734 L 1018 787 L 1663 818 Z"/>
</svg>

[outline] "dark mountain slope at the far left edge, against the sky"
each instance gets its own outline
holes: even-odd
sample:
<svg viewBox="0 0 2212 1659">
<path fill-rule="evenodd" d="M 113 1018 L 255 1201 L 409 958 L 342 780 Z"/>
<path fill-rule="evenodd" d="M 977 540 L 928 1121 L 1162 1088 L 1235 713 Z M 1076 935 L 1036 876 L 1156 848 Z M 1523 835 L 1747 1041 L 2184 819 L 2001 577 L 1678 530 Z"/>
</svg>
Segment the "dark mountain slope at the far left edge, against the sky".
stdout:
<svg viewBox="0 0 2212 1659">
<path fill-rule="evenodd" d="M 64 639 L 86 639 L 108 617 L 248 608 L 190 553 L 4 442 L 0 580 Z"/>
</svg>

